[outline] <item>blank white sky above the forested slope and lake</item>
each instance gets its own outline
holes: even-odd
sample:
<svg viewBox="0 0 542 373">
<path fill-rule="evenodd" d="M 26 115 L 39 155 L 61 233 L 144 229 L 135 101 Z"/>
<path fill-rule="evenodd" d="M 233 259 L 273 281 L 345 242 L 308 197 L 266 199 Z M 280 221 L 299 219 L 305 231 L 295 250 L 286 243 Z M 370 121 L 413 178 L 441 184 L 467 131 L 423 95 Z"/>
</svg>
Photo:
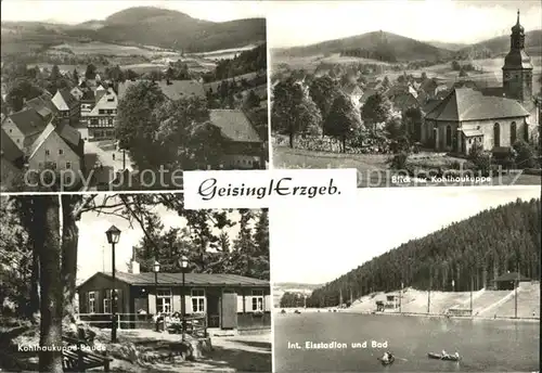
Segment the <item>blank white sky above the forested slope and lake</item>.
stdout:
<svg viewBox="0 0 542 373">
<path fill-rule="evenodd" d="M 518 197 L 540 197 L 540 185 L 359 189 L 350 207 L 272 208 L 271 281 L 324 284 L 410 240 Z"/>
</svg>

